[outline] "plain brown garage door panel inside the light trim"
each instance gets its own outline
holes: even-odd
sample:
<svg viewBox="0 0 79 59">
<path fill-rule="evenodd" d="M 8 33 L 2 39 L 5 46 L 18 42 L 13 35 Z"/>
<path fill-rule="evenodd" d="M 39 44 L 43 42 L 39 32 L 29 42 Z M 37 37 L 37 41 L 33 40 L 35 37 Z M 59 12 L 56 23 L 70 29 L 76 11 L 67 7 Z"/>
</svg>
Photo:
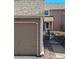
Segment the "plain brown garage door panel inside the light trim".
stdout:
<svg viewBox="0 0 79 59">
<path fill-rule="evenodd" d="M 14 24 L 15 55 L 37 55 L 37 27 L 38 25 L 32 22 Z"/>
</svg>

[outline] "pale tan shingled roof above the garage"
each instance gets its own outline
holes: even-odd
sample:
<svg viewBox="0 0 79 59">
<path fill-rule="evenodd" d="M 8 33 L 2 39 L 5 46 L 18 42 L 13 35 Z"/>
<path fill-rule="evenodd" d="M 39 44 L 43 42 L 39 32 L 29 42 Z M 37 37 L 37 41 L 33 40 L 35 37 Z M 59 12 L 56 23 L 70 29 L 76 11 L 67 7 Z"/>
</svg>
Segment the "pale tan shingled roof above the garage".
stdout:
<svg viewBox="0 0 79 59">
<path fill-rule="evenodd" d="M 39 16 L 43 14 L 43 0 L 15 0 L 14 15 Z"/>
</svg>

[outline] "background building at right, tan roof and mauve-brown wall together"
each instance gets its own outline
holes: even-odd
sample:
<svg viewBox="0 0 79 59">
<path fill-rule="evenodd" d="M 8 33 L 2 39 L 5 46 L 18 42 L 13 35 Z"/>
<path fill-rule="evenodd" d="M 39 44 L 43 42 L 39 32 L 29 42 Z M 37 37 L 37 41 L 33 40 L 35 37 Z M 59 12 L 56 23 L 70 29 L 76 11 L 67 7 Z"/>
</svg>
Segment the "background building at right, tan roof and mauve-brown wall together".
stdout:
<svg viewBox="0 0 79 59">
<path fill-rule="evenodd" d="M 53 25 L 50 25 L 52 30 L 65 31 L 65 3 L 47 3 L 44 9 L 48 10 L 47 16 L 54 17 Z"/>
</svg>

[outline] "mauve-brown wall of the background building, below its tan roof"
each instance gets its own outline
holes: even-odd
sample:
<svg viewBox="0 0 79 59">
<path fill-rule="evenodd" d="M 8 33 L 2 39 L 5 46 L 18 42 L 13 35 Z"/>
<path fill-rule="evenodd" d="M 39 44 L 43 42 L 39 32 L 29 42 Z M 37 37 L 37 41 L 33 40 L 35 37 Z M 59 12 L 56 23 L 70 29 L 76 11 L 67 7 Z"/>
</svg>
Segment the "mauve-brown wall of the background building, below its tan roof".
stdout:
<svg viewBox="0 0 79 59">
<path fill-rule="evenodd" d="M 65 10 L 64 9 L 50 10 L 50 16 L 54 17 L 53 30 L 65 31 Z"/>
</svg>

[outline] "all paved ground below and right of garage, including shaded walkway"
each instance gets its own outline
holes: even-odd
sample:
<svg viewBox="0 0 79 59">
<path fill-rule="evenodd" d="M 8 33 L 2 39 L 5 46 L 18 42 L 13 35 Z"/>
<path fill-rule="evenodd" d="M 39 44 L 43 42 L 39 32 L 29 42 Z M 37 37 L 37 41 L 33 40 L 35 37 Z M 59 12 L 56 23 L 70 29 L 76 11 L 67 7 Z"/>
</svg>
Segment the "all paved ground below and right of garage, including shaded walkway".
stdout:
<svg viewBox="0 0 79 59">
<path fill-rule="evenodd" d="M 65 59 L 64 48 L 53 40 L 44 40 L 44 56 L 15 56 L 15 59 Z"/>
</svg>

